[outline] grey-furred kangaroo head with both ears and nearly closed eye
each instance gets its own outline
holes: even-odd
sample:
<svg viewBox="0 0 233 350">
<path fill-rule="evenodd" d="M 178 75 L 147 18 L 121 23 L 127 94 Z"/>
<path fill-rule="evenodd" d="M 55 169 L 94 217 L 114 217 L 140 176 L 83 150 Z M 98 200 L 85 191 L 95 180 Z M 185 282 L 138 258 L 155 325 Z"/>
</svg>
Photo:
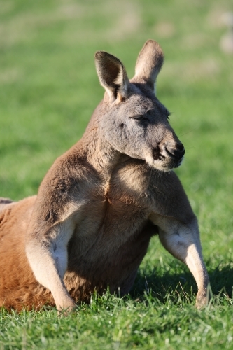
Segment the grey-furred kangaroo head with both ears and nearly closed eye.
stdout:
<svg viewBox="0 0 233 350">
<path fill-rule="evenodd" d="M 155 80 L 163 63 L 160 45 L 146 42 L 131 80 L 113 55 L 98 51 L 95 62 L 106 90 L 100 120 L 105 139 L 120 153 L 156 169 L 169 171 L 181 165 L 185 149 L 169 125 L 169 111 L 155 97 Z"/>
</svg>

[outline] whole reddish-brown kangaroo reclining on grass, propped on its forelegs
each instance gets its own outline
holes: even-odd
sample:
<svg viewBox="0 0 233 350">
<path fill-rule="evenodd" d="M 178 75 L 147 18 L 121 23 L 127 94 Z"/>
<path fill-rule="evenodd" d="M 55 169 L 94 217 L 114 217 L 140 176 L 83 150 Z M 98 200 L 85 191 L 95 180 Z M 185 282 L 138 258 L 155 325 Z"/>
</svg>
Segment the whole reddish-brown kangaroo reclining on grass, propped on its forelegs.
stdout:
<svg viewBox="0 0 233 350">
<path fill-rule="evenodd" d="M 197 218 L 172 171 L 185 149 L 155 97 L 162 63 L 153 40 L 131 80 L 118 58 L 95 54 L 106 91 L 83 137 L 55 160 L 37 196 L 0 201 L 0 305 L 69 312 L 94 290 L 125 295 L 156 234 L 192 272 L 196 306 L 208 302 Z"/>
</svg>

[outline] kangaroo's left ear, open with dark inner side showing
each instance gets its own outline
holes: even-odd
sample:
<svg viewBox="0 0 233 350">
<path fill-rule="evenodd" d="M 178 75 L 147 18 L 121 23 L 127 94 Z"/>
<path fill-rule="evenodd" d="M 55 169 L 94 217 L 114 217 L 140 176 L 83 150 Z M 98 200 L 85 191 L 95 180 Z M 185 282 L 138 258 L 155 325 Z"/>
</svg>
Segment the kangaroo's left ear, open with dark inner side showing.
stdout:
<svg viewBox="0 0 233 350">
<path fill-rule="evenodd" d="M 129 79 L 120 60 L 104 51 L 95 54 L 95 65 L 99 82 L 111 98 L 124 99 L 127 96 Z"/>
</svg>

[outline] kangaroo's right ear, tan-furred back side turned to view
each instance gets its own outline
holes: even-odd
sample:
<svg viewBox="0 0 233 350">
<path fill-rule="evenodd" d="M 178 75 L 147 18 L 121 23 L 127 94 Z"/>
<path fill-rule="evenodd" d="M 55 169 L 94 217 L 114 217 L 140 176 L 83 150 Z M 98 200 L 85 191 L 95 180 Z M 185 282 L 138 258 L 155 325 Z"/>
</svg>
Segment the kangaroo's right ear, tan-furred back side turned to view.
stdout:
<svg viewBox="0 0 233 350">
<path fill-rule="evenodd" d="M 146 41 L 136 61 L 132 83 L 143 83 L 155 91 L 155 80 L 162 67 L 164 55 L 160 45 L 154 40 Z"/>
</svg>

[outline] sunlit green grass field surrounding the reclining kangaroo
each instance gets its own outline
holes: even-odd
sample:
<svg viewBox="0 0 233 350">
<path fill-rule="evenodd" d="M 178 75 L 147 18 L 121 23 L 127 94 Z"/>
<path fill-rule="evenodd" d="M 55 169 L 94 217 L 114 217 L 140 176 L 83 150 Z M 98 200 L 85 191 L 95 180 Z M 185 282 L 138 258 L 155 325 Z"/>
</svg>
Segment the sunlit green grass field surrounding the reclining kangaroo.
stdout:
<svg viewBox="0 0 233 350">
<path fill-rule="evenodd" d="M 233 70 L 219 48 L 226 0 L 0 0 L 0 195 L 37 192 L 103 96 L 94 52 L 129 77 L 148 38 L 165 53 L 157 96 L 185 144 L 177 173 L 199 219 L 213 300 L 193 307 L 186 267 L 150 244 L 125 299 L 93 296 L 76 314 L 0 312 L 0 349 L 233 349 Z M 1 258 L 1 257 L 0 257 Z"/>
</svg>

